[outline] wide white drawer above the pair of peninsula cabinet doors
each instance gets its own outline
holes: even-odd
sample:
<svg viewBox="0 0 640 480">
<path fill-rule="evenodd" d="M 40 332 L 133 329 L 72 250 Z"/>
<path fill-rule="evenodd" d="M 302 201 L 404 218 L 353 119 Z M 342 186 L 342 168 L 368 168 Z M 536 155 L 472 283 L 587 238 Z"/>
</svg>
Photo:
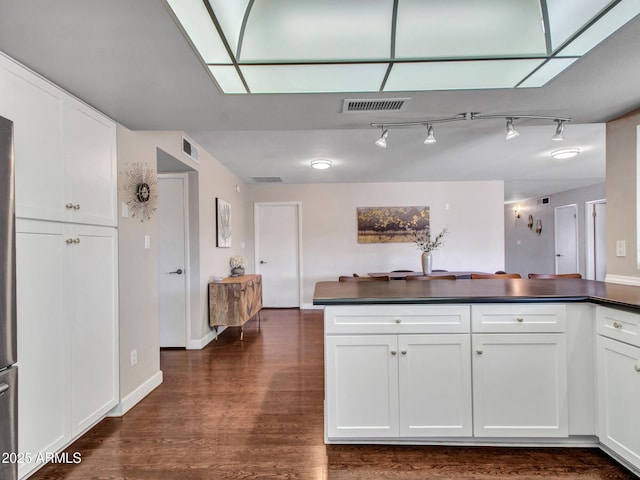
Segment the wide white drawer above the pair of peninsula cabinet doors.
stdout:
<svg viewBox="0 0 640 480">
<path fill-rule="evenodd" d="M 469 305 L 340 305 L 324 311 L 331 333 L 468 333 Z"/>
</svg>

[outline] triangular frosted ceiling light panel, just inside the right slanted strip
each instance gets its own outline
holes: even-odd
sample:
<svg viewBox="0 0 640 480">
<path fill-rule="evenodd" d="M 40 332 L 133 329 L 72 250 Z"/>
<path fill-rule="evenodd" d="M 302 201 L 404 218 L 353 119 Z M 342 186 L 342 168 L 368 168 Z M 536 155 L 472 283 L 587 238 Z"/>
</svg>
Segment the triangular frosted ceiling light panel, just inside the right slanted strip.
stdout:
<svg viewBox="0 0 640 480">
<path fill-rule="evenodd" d="M 611 0 L 547 0 L 552 49 L 555 51 L 610 3 Z"/>
</svg>

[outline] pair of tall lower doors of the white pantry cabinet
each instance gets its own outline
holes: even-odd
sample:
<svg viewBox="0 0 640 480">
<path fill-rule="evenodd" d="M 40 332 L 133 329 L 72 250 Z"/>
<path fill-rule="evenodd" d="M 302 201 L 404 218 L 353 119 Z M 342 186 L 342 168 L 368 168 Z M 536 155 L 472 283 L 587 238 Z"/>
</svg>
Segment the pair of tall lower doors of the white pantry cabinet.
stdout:
<svg viewBox="0 0 640 480">
<path fill-rule="evenodd" d="M 114 228 L 16 222 L 18 441 L 34 460 L 118 402 L 116 248 Z"/>
</svg>

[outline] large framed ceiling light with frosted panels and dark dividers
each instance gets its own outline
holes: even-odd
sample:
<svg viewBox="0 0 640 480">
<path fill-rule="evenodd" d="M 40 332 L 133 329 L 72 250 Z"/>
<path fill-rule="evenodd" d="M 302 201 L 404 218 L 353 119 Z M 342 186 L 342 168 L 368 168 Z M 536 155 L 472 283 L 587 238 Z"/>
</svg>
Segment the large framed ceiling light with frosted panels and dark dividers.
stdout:
<svg viewBox="0 0 640 480">
<path fill-rule="evenodd" d="M 167 1 L 228 94 L 541 87 L 640 14 L 637 0 Z"/>
</svg>

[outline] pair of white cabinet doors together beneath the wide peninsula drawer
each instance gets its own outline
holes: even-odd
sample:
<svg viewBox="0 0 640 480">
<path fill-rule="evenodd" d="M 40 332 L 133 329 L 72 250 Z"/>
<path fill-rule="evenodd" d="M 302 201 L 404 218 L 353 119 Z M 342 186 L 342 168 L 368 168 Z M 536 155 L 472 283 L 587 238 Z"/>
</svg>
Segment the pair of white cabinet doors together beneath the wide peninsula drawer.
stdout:
<svg viewBox="0 0 640 480">
<path fill-rule="evenodd" d="M 328 438 L 470 436 L 469 335 L 326 339 Z"/>
</svg>

